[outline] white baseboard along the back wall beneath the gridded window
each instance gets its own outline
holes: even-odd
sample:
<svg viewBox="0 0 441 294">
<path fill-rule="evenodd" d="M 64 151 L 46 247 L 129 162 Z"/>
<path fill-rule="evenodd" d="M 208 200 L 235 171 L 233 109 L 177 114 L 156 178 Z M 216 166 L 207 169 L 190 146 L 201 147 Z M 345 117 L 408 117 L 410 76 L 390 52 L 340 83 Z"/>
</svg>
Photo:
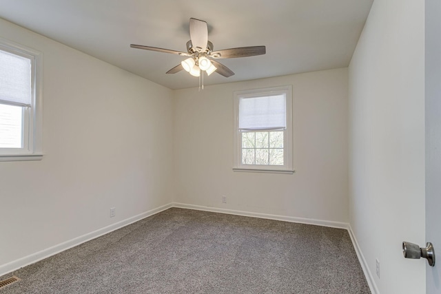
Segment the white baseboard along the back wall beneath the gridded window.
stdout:
<svg viewBox="0 0 441 294">
<path fill-rule="evenodd" d="M 349 228 L 349 224 L 347 224 L 346 222 L 331 222 L 329 220 L 314 220 L 312 218 L 294 218 L 292 216 L 278 216 L 267 213 L 239 211 L 239 210 L 223 209 L 217 207 L 204 207 L 200 205 L 184 204 L 184 203 L 176 203 L 176 202 L 173 203 L 173 207 L 234 214 L 235 216 L 251 216 L 253 218 L 266 218 L 268 220 L 282 220 L 284 222 L 298 222 L 300 224 L 314 224 L 316 226 L 332 227 L 338 229 Z"/>
</svg>

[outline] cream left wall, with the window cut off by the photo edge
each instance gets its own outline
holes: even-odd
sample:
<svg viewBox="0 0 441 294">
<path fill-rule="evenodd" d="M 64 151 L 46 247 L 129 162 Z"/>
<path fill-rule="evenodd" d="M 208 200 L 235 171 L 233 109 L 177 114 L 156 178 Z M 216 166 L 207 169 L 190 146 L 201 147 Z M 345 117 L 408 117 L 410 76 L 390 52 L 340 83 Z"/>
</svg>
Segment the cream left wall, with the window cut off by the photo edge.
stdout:
<svg viewBox="0 0 441 294">
<path fill-rule="evenodd" d="M 172 202 L 171 90 L 1 19 L 0 36 L 44 54 L 45 154 L 0 162 L 0 269 Z"/>
</svg>

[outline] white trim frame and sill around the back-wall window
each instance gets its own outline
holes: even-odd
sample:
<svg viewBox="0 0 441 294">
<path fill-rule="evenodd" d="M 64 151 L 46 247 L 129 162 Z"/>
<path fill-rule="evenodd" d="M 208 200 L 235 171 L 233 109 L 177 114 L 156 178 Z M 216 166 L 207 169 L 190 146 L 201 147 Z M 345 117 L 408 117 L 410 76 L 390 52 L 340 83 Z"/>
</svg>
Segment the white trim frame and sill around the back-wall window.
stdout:
<svg viewBox="0 0 441 294">
<path fill-rule="evenodd" d="M 287 128 L 284 131 L 283 146 L 285 165 L 243 165 L 242 164 L 242 134 L 238 128 L 239 124 L 239 98 L 246 96 L 264 96 L 265 94 L 286 93 L 287 97 Z M 293 97 L 292 85 L 280 87 L 268 87 L 263 89 L 245 90 L 234 92 L 234 163 L 233 171 L 249 171 L 257 173 L 277 173 L 277 174 L 294 174 L 293 163 Z"/>
</svg>

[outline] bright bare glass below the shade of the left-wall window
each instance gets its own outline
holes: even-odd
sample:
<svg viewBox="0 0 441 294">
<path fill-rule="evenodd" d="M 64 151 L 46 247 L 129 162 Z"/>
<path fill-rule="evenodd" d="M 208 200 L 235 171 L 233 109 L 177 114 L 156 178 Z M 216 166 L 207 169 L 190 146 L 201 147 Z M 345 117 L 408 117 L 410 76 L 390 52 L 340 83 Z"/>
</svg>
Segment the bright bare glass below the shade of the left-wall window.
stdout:
<svg viewBox="0 0 441 294">
<path fill-rule="evenodd" d="M 0 148 L 22 148 L 23 107 L 0 104 Z"/>
</svg>

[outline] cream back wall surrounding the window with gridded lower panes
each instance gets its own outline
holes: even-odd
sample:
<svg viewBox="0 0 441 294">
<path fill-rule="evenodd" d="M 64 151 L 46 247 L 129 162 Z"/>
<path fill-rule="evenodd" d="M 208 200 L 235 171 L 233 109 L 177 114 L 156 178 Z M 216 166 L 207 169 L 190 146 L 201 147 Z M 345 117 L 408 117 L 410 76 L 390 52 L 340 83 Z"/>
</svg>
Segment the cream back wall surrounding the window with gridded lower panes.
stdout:
<svg viewBox="0 0 441 294">
<path fill-rule="evenodd" d="M 293 85 L 295 174 L 232 171 L 233 92 L 279 85 Z M 174 96 L 176 202 L 348 222 L 347 69 L 176 90 Z"/>
</svg>

